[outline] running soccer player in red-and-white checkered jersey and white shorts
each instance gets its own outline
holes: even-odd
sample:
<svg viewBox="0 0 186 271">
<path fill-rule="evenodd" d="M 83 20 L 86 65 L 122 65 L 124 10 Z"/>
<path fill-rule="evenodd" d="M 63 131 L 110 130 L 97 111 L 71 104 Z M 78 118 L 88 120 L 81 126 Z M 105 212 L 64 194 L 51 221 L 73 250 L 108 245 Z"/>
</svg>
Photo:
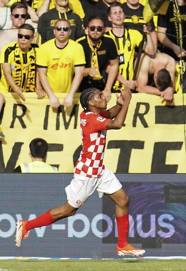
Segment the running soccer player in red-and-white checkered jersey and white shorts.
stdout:
<svg viewBox="0 0 186 271">
<path fill-rule="evenodd" d="M 62 218 L 74 215 L 94 190 L 97 190 L 99 197 L 106 194 L 116 203 L 117 254 L 119 256 L 139 256 L 145 252 L 145 250 L 134 248 L 127 243 L 129 197 L 113 172 L 103 165 L 106 130 L 121 129 L 126 119 L 131 99 L 128 82 L 125 84 L 125 90 L 121 90 L 120 96 L 117 93 L 116 96 L 117 104 L 106 110 L 107 100 L 100 90 L 88 88 L 81 93 L 80 103 L 84 109 L 80 114 L 83 150 L 75 165 L 74 179 L 65 188 L 67 201 L 63 206 L 53 208 L 33 220 L 19 220 L 16 232 L 18 247 L 21 246 L 22 239 L 28 236 L 29 230 L 50 225 Z M 79 189 L 80 187 L 81 189 Z"/>
</svg>

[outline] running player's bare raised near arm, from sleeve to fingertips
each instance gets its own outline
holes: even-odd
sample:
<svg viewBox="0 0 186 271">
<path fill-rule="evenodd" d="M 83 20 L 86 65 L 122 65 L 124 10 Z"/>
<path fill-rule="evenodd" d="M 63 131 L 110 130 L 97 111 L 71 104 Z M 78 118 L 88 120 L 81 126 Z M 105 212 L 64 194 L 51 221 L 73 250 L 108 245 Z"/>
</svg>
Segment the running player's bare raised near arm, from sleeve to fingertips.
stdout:
<svg viewBox="0 0 186 271">
<path fill-rule="evenodd" d="M 115 117 L 114 120 L 110 120 L 107 124 L 106 124 L 106 129 L 107 130 L 112 130 L 112 129 L 121 129 L 121 127 L 124 124 L 124 121 L 126 119 L 126 114 L 128 111 L 128 106 L 132 97 L 131 91 L 130 91 L 130 86 L 129 83 L 127 82 L 125 84 L 125 90 L 120 90 L 121 91 L 121 96 L 123 99 L 123 104 L 121 107 L 121 109 L 119 110 L 117 116 Z M 117 105 L 118 106 L 118 105 Z M 113 108 L 111 108 L 110 110 L 112 110 Z"/>
</svg>

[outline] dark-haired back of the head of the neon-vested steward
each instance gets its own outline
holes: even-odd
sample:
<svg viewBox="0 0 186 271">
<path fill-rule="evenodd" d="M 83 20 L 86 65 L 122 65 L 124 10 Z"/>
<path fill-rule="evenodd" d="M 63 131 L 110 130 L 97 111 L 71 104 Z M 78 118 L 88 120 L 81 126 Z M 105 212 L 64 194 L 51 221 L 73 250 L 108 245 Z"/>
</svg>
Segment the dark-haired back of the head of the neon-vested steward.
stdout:
<svg viewBox="0 0 186 271">
<path fill-rule="evenodd" d="M 48 150 L 48 144 L 42 138 L 35 138 L 31 141 L 29 148 L 34 158 L 44 158 Z"/>
</svg>

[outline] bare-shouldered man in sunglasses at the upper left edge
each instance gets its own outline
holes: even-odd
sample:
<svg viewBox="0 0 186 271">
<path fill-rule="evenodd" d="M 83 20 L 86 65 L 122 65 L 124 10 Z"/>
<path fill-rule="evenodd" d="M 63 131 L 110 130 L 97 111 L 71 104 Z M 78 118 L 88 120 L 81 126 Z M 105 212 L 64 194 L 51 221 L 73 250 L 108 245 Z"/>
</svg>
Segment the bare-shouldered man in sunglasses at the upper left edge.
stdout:
<svg viewBox="0 0 186 271">
<path fill-rule="evenodd" d="M 17 41 L 18 29 L 27 19 L 28 8 L 26 5 L 16 2 L 11 5 L 10 12 L 12 26 L 0 34 L 0 52 L 5 45 Z"/>
</svg>

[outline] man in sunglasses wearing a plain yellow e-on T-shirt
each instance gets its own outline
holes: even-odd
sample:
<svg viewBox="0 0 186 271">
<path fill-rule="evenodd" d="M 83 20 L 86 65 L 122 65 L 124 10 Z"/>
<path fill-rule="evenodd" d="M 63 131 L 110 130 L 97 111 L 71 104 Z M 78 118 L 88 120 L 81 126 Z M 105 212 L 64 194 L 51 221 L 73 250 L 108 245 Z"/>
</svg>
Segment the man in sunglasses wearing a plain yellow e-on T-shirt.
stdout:
<svg viewBox="0 0 186 271">
<path fill-rule="evenodd" d="M 55 38 L 40 45 L 36 65 L 40 82 L 49 96 L 52 108 L 60 106 L 56 92 L 66 92 L 64 106 L 71 106 L 85 66 L 83 47 L 69 39 L 71 27 L 67 20 L 56 22 L 53 33 Z"/>
</svg>

